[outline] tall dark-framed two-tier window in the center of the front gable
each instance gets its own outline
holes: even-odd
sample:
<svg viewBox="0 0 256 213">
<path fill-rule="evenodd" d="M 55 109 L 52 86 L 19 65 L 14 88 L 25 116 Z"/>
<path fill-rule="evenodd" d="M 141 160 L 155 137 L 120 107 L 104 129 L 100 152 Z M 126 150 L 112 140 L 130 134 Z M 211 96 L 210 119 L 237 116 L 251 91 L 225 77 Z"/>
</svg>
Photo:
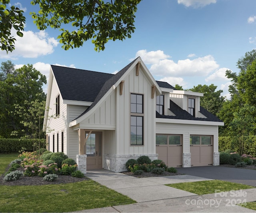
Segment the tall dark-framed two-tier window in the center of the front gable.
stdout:
<svg viewBox="0 0 256 213">
<path fill-rule="evenodd" d="M 130 145 L 143 145 L 143 95 L 131 94 Z"/>
</svg>

